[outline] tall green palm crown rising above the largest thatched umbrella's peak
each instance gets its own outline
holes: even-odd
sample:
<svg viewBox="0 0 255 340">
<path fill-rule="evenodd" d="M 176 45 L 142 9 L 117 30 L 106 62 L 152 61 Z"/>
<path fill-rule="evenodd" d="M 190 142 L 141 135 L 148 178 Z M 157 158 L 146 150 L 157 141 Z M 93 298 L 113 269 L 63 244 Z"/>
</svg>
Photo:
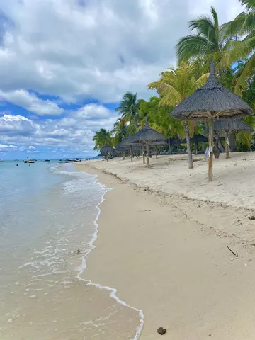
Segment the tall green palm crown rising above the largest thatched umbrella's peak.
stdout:
<svg viewBox="0 0 255 340">
<path fill-rule="evenodd" d="M 186 35 L 177 42 L 176 50 L 179 61 L 200 57 L 219 62 L 229 48 L 227 40 L 222 38 L 217 12 L 211 7 L 211 16 L 200 16 L 189 22 L 196 34 Z"/>
</svg>

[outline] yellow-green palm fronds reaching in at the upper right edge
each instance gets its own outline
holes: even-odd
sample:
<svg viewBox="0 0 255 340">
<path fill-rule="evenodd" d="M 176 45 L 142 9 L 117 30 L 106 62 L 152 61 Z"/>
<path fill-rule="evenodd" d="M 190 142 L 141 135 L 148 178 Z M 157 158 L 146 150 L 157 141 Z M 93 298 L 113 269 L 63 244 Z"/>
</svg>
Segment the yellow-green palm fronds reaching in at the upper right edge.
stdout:
<svg viewBox="0 0 255 340">
<path fill-rule="evenodd" d="M 237 73 L 234 88 L 235 93 L 241 96 L 242 90 L 249 85 L 247 79 L 253 77 L 255 69 L 255 2 L 254 0 L 239 2 L 245 6 L 246 11 L 222 25 L 221 32 L 223 38 L 231 40 L 232 47 L 223 58 L 222 67 L 246 58 Z"/>
</svg>

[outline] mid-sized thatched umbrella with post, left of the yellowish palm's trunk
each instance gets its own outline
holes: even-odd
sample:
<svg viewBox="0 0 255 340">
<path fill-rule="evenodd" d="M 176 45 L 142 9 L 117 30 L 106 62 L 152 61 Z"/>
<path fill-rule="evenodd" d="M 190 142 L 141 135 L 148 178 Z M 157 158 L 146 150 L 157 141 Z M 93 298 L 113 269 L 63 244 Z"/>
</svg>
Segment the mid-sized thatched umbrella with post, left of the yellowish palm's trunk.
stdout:
<svg viewBox="0 0 255 340">
<path fill-rule="evenodd" d="M 130 137 L 130 142 L 141 143 L 143 147 L 146 146 L 148 168 L 149 168 L 149 145 L 151 145 L 152 142 L 157 142 L 157 141 L 162 141 L 162 140 L 165 140 L 164 135 L 150 128 L 147 122 L 141 130 L 139 130 L 137 133 L 135 133 L 135 135 L 132 135 Z M 143 154 L 145 154 L 144 149 L 143 149 Z"/>
</svg>

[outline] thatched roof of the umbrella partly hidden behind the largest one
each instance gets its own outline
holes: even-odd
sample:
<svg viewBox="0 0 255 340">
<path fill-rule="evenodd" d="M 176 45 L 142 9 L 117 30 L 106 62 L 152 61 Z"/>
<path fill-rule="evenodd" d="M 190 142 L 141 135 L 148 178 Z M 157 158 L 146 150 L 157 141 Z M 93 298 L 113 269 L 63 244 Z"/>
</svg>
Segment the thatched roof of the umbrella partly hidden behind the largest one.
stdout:
<svg viewBox="0 0 255 340">
<path fill-rule="evenodd" d="M 251 126 L 240 119 L 217 119 L 213 123 L 214 131 L 250 132 Z"/>
</svg>

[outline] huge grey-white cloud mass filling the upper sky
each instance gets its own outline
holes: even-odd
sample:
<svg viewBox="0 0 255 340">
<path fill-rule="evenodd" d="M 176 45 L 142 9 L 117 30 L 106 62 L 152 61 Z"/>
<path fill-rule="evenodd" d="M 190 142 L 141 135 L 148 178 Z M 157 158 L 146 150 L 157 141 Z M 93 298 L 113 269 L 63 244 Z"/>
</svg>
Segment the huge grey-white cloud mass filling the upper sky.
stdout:
<svg viewBox="0 0 255 340">
<path fill-rule="evenodd" d="M 0 88 L 38 115 L 60 108 L 19 89 L 67 101 L 117 101 L 126 91 L 149 96 L 146 85 L 174 64 L 188 20 L 210 5 L 221 22 L 241 11 L 238 0 L 1 1 Z"/>
</svg>

